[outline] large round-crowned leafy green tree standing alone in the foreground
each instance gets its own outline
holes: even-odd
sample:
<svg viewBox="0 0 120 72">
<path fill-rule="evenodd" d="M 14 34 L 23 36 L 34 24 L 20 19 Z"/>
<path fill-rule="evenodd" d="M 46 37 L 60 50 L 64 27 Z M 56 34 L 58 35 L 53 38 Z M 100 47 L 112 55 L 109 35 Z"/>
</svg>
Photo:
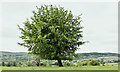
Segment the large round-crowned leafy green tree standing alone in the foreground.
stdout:
<svg viewBox="0 0 120 72">
<path fill-rule="evenodd" d="M 18 43 L 28 48 L 30 54 L 39 55 L 43 59 L 72 60 L 75 51 L 85 42 L 82 41 L 81 15 L 73 16 L 72 12 L 64 7 L 42 5 L 33 11 L 33 17 L 24 22 Z"/>
</svg>

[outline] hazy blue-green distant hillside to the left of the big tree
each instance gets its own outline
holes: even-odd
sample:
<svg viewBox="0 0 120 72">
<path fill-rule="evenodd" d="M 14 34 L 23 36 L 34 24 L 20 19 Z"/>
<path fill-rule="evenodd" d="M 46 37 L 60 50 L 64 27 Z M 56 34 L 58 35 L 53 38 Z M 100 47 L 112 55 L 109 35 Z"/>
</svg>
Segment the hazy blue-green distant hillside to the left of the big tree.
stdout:
<svg viewBox="0 0 120 72">
<path fill-rule="evenodd" d="M 28 55 L 26 52 L 6 52 L 1 51 L 2 56 L 0 59 L 2 61 L 31 61 L 33 60 L 32 55 Z"/>
</svg>

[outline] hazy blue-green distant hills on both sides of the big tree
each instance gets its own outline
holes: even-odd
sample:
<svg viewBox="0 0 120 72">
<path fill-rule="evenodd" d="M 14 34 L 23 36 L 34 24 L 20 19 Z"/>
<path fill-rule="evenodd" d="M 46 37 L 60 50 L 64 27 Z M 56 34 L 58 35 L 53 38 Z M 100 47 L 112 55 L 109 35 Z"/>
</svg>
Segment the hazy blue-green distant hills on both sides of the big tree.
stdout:
<svg viewBox="0 0 120 72">
<path fill-rule="evenodd" d="M 33 60 L 33 55 L 28 55 L 26 52 L 2 52 L 2 56 L 0 56 L 0 59 L 3 61 L 31 61 Z M 117 53 L 77 53 L 78 57 L 75 58 L 75 60 L 81 60 L 81 59 L 97 59 L 97 58 L 118 58 Z M 119 54 L 120 56 L 120 54 Z"/>
</svg>

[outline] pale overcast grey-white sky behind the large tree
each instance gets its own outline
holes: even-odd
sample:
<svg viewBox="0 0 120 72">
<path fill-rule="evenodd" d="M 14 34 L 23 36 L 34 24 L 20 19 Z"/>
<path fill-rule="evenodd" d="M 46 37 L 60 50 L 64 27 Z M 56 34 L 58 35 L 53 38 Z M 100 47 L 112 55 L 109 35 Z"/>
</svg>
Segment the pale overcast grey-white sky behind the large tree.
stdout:
<svg viewBox="0 0 120 72">
<path fill-rule="evenodd" d="M 0 4 L 0 51 L 27 52 L 17 42 L 21 27 L 27 18 L 43 4 L 60 5 L 77 16 L 82 13 L 83 40 L 89 41 L 76 51 L 118 53 L 118 6 L 117 2 L 5 2 Z"/>
</svg>

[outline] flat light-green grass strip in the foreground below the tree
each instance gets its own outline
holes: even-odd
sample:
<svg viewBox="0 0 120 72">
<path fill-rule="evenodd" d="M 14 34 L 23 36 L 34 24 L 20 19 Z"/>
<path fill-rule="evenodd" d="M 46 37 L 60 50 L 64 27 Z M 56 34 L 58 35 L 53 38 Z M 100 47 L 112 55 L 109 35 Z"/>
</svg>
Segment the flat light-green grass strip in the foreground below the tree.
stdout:
<svg viewBox="0 0 120 72">
<path fill-rule="evenodd" d="M 118 66 L 2 67 L 2 70 L 118 70 Z"/>
</svg>

